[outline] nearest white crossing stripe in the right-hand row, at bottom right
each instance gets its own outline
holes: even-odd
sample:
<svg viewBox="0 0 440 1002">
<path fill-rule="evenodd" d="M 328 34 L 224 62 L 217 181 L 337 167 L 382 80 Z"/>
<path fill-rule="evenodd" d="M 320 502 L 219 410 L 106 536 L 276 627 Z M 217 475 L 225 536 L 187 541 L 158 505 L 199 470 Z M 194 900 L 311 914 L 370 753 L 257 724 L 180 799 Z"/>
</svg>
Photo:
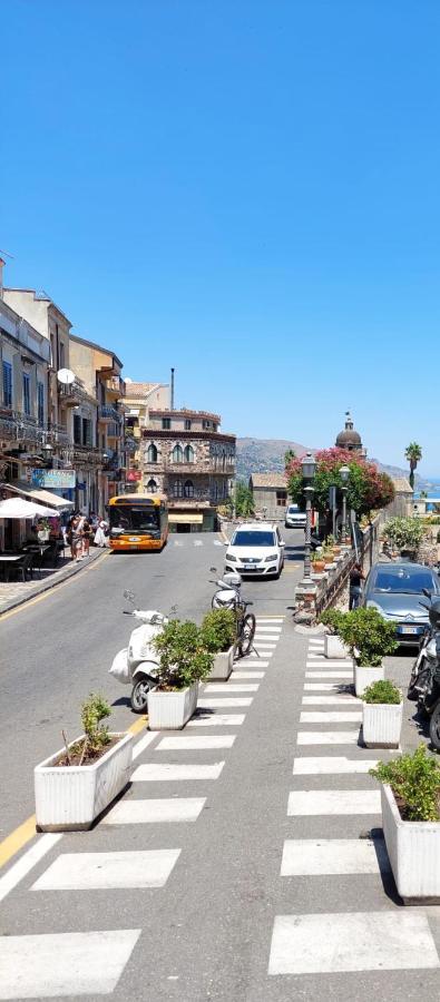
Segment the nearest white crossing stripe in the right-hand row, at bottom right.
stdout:
<svg viewBox="0 0 440 1002">
<path fill-rule="evenodd" d="M 440 964 L 426 915 L 276 915 L 268 974 L 397 971 Z"/>
</svg>

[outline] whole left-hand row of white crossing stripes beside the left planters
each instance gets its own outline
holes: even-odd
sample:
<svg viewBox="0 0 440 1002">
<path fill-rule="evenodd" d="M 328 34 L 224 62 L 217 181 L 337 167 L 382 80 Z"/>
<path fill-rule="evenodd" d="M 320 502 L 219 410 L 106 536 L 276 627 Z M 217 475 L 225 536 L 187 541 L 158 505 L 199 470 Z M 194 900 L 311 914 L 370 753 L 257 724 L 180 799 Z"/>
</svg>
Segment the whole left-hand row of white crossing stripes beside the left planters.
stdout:
<svg viewBox="0 0 440 1002">
<path fill-rule="evenodd" d="M 131 788 L 100 819 L 96 832 L 85 833 L 84 836 L 78 833 L 76 836 L 39 836 L 36 845 L 28 851 L 30 854 L 33 852 L 35 861 L 31 859 L 27 868 L 25 855 L 16 864 L 22 865 L 25 876 L 30 874 L 33 863 L 40 863 L 41 872 L 33 878 L 29 876 L 29 886 L 21 888 L 21 893 L 29 895 L 29 900 L 38 901 L 45 895 L 50 895 L 53 902 L 61 900 L 67 915 L 69 895 L 86 896 L 87 893 L 89 903 L 91 894 L 92 904 L 90 910 L 89 904 L 87 907 L 92 932 L 88 929 L 58 933 L 48 930 L 29 934 L 29 930 L 25 929 L 22 935 L 0 936 L 0 999 L 75 998 L 81 994 L 111 994 L 116 990 L 143 930 L 99 930 L 100 893 L 136 890 L 138 893 L 160 894 L 173 880 L 184 853 L 179 845 L 184 841 L 179 837 L 182 826 L 197 825 L 208 805 L 212 784 L 222 778 L 227 756 L 234 752 L 234 744 L 258 695 L 282 628 L 283 617 L 257 617 L 255 650 L 236 662 L 237 670 L 233 671 L 227 682 L 208 682 L 203 687 L 197 714 L 185 730 L 147 733 L 139 738 L 134 750 L 136 766 L 131 774 Z M 270 646 L 261 657 L 260 648 L 265 644 Z M 187 760 L 188 755 L 190 760 Z M 160 784 L 164 784 L 164 790 Z M 177 784 L 177 794 L 173 784 Z M 195 794 L 195 786 L 199 788 L 199 795 Z M 167 787 L 173 795 L 167 794 Z M 109 836 L 111 832 L 121 831 L 128 835 L 123 845 L 130 846 L 136 832 L 153 828 L 162 843 L 154 848 L 121 849 L 110 845 L 104 849 L 102 841 L 99 842 L 100 833 Z M 128 834 L 130 832 L 131 835 Z M 164 834 L 163 841 L 163 832 L 175 835 L 166 838 Z M 49 859 L 48 865 L 45 861 L 45 866 L 43 853 L 35 853 L 43 839 L 49 839 L 45 843 Z M 78 847 L 78 839 L 84 839 L 85 851 Z M 19 881 L 12 880 L 6 894 L 12 893 L 17 883 Z M 149 898 L 149 908 L 154 908 L 154 898 Z"/>
</svg>

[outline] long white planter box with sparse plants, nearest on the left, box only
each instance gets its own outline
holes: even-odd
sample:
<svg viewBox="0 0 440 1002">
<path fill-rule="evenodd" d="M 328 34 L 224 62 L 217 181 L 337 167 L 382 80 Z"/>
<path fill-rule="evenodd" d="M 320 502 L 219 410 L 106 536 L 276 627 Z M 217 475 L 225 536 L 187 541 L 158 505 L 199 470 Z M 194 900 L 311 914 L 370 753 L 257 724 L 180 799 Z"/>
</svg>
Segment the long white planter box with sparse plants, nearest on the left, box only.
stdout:
<svg viewBox="0 0 440 1002">
<path fill-rule="evenodd" d="M 36 766 L 36 816 L 41 832 L 90 828 L 95 818 L 127 786 L 131 775 L 133 734 L 110 737 L 120 740 L 92 765 L 55 766 L 65 752 L 61 748 Z M 69 748 L 75 744 L 71 741 Z"/>
</svg>

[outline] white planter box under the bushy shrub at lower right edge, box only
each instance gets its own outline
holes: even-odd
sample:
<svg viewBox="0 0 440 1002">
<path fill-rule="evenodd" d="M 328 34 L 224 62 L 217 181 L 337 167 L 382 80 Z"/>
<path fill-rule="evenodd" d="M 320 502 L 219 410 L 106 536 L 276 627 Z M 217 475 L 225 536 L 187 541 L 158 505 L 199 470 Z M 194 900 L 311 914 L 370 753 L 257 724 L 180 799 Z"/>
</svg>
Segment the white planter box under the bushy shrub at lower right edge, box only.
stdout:
<svg viewBox="0 0 440 1002">
<path fill-rule="evenodd" d="M 440 902 L 440 822 L 402 821 L 390 786 L 382 786 L 382 826 L 395 886 L 409 904 Z"/>
</svg>

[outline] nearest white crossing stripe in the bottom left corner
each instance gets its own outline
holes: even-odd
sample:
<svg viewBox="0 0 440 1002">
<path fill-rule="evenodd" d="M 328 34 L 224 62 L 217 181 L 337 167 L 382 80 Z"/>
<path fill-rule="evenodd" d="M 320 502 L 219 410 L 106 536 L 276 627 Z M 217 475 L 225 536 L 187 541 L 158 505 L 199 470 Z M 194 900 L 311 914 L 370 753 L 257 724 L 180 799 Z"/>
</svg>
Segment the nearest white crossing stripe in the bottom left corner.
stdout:
<svg viewBox="0 0 440 1002">
<path fill-rule="evenodd" d="M 140 929 L 0 939 L 0 999 L 108 995 Z"/>
</svg>

